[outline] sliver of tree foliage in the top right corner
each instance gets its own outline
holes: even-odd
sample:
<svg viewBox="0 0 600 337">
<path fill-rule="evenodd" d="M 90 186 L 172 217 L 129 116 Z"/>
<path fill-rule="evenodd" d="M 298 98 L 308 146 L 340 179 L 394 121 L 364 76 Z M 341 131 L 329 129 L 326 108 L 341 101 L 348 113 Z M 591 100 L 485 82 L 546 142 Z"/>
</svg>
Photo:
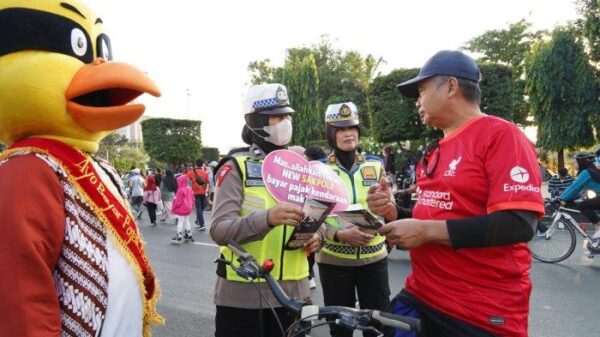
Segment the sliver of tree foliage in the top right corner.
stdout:
<svg viewBox="0 0 600 337">
<path fill-rule="evenodd" d="M 577 11 L 582 16 L 578 26 L 587 40 L 590 58 L 600 62 L 600 1 L 577 0 Z"/>
</svg>

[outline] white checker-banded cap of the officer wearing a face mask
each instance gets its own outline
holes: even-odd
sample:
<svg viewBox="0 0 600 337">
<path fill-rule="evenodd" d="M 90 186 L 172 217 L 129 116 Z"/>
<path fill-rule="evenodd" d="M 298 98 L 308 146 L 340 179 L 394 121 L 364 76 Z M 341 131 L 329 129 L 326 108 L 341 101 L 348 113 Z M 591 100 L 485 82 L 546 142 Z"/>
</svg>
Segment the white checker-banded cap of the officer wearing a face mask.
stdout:
<svg viewBox="0 0 600 337">
<path fill-rule="evenodd" d="M 248 88 L 242 101 L 244 115 L 258 112 L 265 115 L 294 113 L 283 84 L 259 84 Z"/>
</svg>

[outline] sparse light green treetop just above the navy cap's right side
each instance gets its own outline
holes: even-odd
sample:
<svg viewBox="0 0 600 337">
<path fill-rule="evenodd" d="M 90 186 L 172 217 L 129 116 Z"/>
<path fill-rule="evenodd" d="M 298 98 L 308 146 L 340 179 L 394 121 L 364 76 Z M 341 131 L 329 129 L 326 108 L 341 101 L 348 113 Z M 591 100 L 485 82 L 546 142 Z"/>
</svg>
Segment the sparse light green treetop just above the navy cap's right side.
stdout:
<svg viewBox="0 0 600 337">
<path fill-rule="evenodd" d="M 483 54 L 479 59 L 482 62 L 511 66 L 518 78 L 523 74 L 525 55 L 543 35 L 543 31 L 531 31 L 531 22 L 521 19 L 509 24 L 507 29 L 489 30 L 476 36 L 461 49 Z"/>
</svg>

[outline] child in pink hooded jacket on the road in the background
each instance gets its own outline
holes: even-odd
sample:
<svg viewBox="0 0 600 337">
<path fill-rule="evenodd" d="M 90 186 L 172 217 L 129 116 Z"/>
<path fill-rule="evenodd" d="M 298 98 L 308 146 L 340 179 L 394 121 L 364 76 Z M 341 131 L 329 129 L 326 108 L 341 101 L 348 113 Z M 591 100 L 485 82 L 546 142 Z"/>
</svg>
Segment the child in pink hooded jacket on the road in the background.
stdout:
<svg viewBox="0 0 600 337">
<path fill-rule="evenodd" d="M 177 235 L 171 239 L 171 243 L 180 244 L 184 242 L 194 242 L 190 228 L 190 215 L 194 208 L 194 192 L 188 185 L 188 177 L 181 175 L 177 177 L 177 193 L 173 200 L 171 212 L 177 218 Z M 185 233 L 182 236 L 183 226 L 185 224 Z"/>
</svg>

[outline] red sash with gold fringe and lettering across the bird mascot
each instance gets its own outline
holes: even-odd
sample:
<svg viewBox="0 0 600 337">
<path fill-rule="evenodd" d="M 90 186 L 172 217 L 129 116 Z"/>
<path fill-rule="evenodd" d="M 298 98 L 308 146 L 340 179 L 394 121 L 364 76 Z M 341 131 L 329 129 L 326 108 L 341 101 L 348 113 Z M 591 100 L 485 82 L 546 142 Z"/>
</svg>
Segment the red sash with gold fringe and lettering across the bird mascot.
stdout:
<svg viewBox="0 0 600 337">
<path fill-rule="evenodd" d="M 69 181 L 79 187 L 92 205 L 92 210 L 106 228 L 111 230 L 121 251 L 134 266 L 144 289 L 144 336 L 151 335 L 150 323 L 163 323 L 156 312 L 158 290 L 154 272 L 144 253 L 143 242 L 127 205 L 116 198 L 104 184 L 92 165 L 92 160 L 78 150 L 51 139 L 30 138 L 13 144 L 7 152 L 30 150 L 48 155 L 66 170 Z"/>
</svg>

